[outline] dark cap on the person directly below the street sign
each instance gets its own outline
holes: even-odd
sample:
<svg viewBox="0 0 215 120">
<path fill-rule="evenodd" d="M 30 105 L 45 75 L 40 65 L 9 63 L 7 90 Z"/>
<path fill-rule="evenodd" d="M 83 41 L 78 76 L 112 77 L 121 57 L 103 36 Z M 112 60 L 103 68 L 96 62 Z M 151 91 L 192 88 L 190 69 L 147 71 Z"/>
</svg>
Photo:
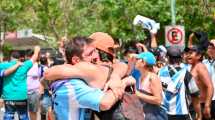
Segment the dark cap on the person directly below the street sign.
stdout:
<svg viewBox="0 0 215 120">
<path fill-rule="evenodd" d="M 167 55 L 169 57 L 181 57 L 182 50 L 179 47 L 170 46 L 167 48 Z"/>
</svg>

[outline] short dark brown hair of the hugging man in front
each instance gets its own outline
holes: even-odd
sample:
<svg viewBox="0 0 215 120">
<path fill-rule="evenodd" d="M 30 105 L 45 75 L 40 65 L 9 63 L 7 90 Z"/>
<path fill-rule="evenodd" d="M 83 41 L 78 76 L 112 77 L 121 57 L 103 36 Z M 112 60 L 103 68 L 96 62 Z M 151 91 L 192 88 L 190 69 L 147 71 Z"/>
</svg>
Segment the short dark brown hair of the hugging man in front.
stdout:
<svg viewBox="0 0 215 120">
<path fill-rule="evenodd" d="M 72 63 L 71 58 L 77 56 L 82 59 L 83 47 L 92 43 L 92 39 L 87 37 L 74 37 L 65 45 L 65 56 L 69 64 Z"/>
</svg>

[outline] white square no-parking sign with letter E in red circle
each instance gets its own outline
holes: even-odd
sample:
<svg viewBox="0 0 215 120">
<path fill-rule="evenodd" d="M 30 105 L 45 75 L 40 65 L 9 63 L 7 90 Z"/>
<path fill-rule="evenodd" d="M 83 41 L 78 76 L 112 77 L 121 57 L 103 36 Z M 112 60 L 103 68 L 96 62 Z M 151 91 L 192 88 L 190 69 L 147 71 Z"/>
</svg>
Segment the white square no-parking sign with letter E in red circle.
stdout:
<svg viewBox="0 0 215 120">
<path fill-rule="evenodd" d="M 165 44 L 166 46 L 185 46 L 184 26 L 166 26 L 165 27 Z"/>
</svg>

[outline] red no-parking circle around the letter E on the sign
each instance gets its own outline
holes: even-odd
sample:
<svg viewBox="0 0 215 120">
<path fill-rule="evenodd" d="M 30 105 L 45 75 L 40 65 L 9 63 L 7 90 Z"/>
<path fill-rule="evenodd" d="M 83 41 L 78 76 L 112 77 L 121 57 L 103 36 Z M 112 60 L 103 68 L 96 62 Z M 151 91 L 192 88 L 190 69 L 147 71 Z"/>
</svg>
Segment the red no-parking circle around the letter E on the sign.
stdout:
<svg viewBox="0 0 215 120">
<path fill-rule="evenodd" d="M 180 36 L 180 38 L 178 39 L 178 40 L 176 40 L 176 39 L 174 39 L 173 37 L 172 37 L 172 34 L 171 33 L 175 33 L 175 34 L 177 34 L 178 36 Z M 182 31 L 180 30 L 180 29 L 178 29 L 178 28 L 172 28 L 172 29 L 170 29 L 168 32 L 167 32 L 167 39 L 168 39 L 168 41 L 170 42 L 170 43 L 172 43 L 172 44 L 178 44 L 178 43 L 180 43 L 181 41 L 182 41 L 182 38 L 183 38 L 183 34 L 182 34 Z"/>
</svg>

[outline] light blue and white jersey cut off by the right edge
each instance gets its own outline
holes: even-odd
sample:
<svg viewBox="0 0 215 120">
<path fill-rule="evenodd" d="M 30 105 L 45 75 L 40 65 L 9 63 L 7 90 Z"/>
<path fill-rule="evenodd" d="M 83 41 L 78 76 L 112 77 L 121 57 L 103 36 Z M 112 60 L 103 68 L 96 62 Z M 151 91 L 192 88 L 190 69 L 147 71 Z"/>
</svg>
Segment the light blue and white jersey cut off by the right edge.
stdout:
<svg viewBox="0 0 215 120">
<path fill-rule="evenodd" d="M 209 75 L 211 77 L 213 87 L 215 88 L 215 61 L 210 61 L 208 59 L 203 60 L 206 68 L 208 69 Z M 213 94 L 212 100 L 215 100 L 215 92 Z"/>
</svg>

